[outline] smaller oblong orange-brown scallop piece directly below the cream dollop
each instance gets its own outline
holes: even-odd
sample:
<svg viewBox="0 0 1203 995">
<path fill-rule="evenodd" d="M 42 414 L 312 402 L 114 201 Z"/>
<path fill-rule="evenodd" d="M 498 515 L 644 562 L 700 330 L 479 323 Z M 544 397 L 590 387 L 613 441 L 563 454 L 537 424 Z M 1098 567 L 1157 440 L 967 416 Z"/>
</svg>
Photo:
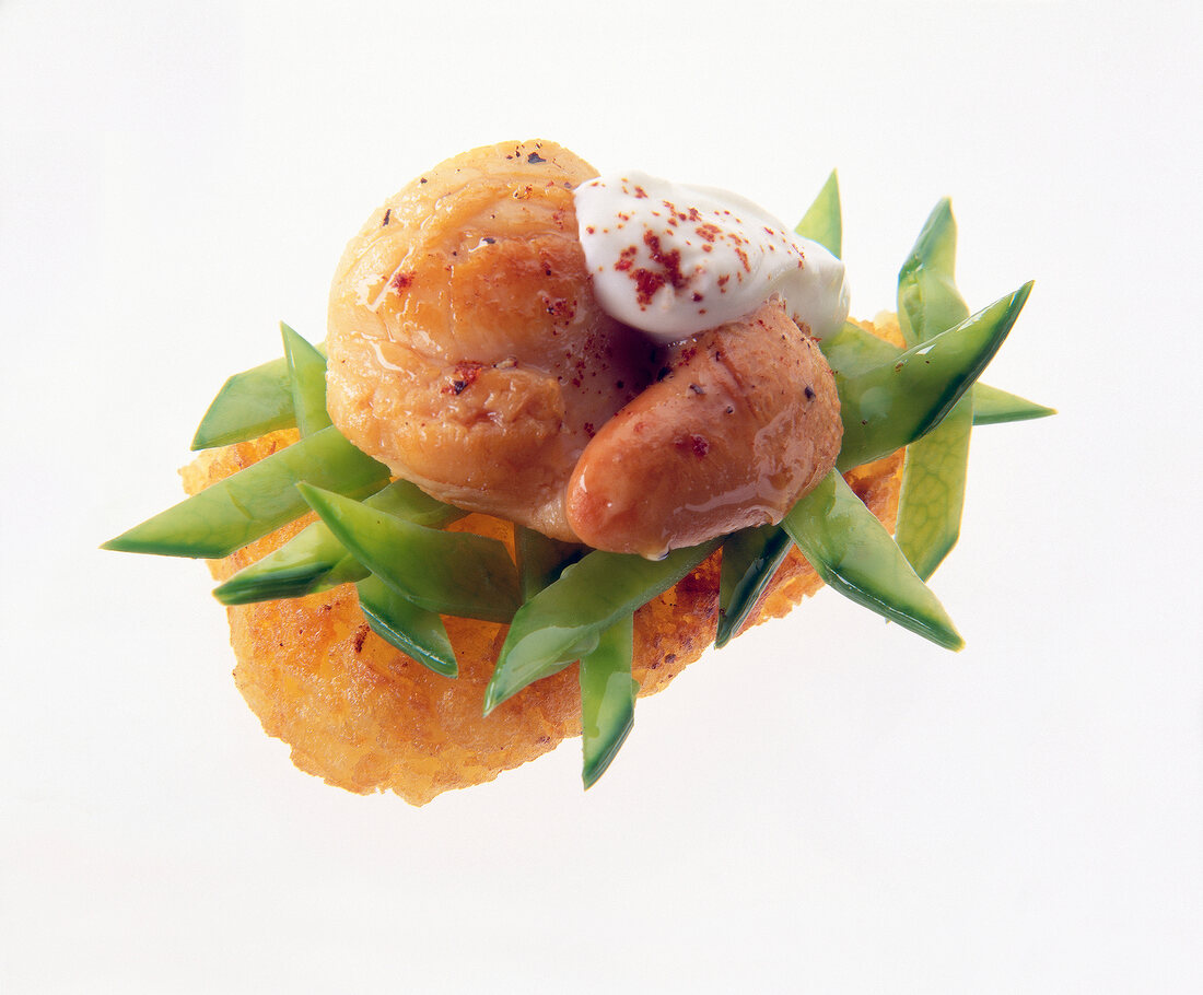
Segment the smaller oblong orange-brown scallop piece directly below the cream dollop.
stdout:
<svg viewBox="0 0 1203 995">
<path fill-rule="evenodd" d="M 835 466 L 835 379 L 780 301 L 674 345 L 660 373 L 573 473 L 568 522 L 588 545 L 658 557 L 778 522 Z"/>
</svg>

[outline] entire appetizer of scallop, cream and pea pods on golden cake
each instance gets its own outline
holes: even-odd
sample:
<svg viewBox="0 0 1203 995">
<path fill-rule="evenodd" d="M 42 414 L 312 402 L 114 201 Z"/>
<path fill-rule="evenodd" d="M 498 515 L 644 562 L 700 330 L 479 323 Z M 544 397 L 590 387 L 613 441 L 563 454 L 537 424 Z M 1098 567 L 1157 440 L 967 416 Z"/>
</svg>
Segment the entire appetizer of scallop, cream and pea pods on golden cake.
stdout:
<svg viewBox="0 0 1203 995">
<path fill-rule="evenodd" d="M 790 232 L 549 142 L 464 153 L 348 245 L 325 345 L 284 326 L 223 387 L 191 497 L 106 547 L 211 559 L 265 729 L 411 804 L 575 734 L 591 786 L 636 694 L 822 584 L 960 648 L 924 581 L 972 427 L 1051 414 L 978 383 L 1031 285 L 970 314 L 942 201 L 899 320 L 849 322 L 841 241 L 834 174 Z"/>
</svg>

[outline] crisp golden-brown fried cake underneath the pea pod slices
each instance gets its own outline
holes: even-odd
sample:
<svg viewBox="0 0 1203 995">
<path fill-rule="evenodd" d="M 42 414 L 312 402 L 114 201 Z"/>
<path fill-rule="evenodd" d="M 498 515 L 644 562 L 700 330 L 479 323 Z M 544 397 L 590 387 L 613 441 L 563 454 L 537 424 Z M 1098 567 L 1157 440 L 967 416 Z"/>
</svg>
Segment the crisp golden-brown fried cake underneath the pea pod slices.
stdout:
<svg viewBox="0 0 1203 995">
<path fill-rule="evenodd" d="M 878 328 L 887 336 L 889 328 Z M 196 493 L 296 438 L 277 432 L 202 454 L 183 473 Z M 853 490 L 893 529 L 902 452 L 848 474 Z M 294 522 L 220 561 L 214 578 L 279 547 L 309 519 Z M 510 526 L 473 515 L 457 522 L 509 540 Z M 633 674 L 654 694 L 715 640 L 716 553 L 675 588 L 635 614 Z M 794 550 L 761 599 L 755 622 L 786 615 L 822 582 Z M 481 716 L 485 687 L 504 627 L 448 618 L 460 677 L 440 677 L 368 629 L 355 588 L 344 585 L 292 600 L 227 609 L 237 657 L 235 682 L 263 729 L 289 744 L 292 762 L 327 783 L 367 794 L 392 790 L 423 805 L 451 788 L 492 781 L 580 734 L 576 667 L 539 681 Z M 745 627 L 747 628 L 747 627 Z"/>
</svg>

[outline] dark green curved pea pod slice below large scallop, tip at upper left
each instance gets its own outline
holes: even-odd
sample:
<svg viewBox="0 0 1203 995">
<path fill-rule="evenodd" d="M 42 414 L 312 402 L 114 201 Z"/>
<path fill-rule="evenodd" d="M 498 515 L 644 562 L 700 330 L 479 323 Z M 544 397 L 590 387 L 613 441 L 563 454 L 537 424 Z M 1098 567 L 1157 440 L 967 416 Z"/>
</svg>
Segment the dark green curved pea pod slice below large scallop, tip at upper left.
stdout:
<svg viewBox="0 0 1203 995">
<path fill-rule="evenodd" d="M 486 622 L 508 622 L 517 609 L 517 569 L 496 539 L 426 528 L 304 484 L 298 490 L 348 552 L 414 604 Z"/>
</svg>

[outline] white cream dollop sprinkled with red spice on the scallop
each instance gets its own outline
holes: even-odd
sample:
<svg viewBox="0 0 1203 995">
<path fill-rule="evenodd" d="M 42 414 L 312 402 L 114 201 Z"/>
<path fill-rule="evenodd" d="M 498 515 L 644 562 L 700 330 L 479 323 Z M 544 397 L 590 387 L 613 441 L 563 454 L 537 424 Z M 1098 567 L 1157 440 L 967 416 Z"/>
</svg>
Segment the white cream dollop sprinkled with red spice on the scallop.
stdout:
<svg viewBox="0 0 1203 995">
<path fill-rule="evenodd" d="M 737 194 L 626 172 L 582 183 L 575 200 L 594 296 L 660 343 L 734 321 L 774 295 L 817 338 L 848 316 L 843 263 Z"/>
</svg>

